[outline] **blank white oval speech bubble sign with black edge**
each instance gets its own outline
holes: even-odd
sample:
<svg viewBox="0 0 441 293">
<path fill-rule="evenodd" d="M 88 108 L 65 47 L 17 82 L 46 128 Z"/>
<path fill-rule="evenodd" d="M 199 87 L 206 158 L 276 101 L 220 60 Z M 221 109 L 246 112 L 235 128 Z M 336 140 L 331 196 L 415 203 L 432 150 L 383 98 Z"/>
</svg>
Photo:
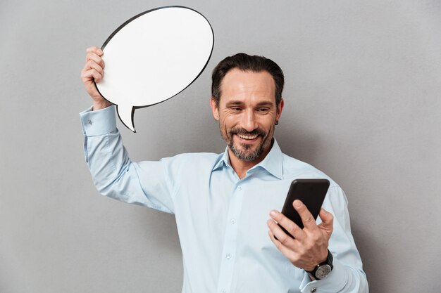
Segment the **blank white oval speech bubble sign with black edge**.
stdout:
<svg viewBox="0 0 441 293">
<path fill-rule="evenodd" d="M 104 42 L 104 76 L 97 89 L 136 132 L 135 109 L 161 103 L 190 86 L 209 62 L 213 44 L 210 23 L 191 8 L 145 11 Z"/>
</svg>

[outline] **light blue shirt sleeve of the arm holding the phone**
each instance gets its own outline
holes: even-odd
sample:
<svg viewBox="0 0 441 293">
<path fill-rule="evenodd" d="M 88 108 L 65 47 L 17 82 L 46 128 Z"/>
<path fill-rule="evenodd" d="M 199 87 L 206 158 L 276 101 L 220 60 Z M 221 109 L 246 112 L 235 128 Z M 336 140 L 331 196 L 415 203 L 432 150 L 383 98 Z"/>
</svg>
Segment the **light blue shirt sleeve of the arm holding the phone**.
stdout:
<svg viewBox="0 0 441 293">
<path fill-rule="evenodd" d="M 334 216 L 334 230 L 329 240 L 334 268 L 323 280 L 311 281 L 305 272 L 299 289 L 302 293 L 368 293 L 366 274 L 351 233 L 347 197 L 340 186 L 330 187 L 323 208 Z"/>
</svg>

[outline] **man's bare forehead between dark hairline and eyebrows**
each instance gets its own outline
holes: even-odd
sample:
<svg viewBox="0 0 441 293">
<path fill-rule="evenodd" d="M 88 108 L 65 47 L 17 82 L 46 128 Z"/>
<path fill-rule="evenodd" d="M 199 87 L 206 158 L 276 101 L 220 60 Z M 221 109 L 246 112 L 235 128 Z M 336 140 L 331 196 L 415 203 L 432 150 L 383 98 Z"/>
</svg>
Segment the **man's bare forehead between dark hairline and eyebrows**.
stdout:
<svg viewBox="0 0 441 293">
<path fill-rule="evenodd" d="M 266 100 L 275 103 L 275 82 L 267 71 L 252 72 L 234 68 L 221 82 L 221 102 L 237 99 Z"/>
</svg>

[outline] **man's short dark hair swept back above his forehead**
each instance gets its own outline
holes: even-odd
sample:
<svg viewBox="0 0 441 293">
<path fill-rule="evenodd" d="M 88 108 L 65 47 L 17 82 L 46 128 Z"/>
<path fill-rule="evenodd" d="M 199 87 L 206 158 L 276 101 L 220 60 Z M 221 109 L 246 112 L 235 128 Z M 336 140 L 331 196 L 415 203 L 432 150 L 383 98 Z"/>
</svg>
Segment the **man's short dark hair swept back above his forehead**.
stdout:
<svg viewBox="0 0 441 293">
<path fill-rule="evenodd" d="M 266 71 L 271 74 L 275 83 L 275 105 L 279 105 L 282 100 L 283 84 L 285 84 L 282 69 L 271 59 L 256 55 L 249 56 L 245 53 L 227 57 L 214 67 L 211 74 L 211 96 L 216 100 L 216 105 L 219 105 L 221 100 L 222 79 L 233 68 L 251 72 Z"/>
</svg>

